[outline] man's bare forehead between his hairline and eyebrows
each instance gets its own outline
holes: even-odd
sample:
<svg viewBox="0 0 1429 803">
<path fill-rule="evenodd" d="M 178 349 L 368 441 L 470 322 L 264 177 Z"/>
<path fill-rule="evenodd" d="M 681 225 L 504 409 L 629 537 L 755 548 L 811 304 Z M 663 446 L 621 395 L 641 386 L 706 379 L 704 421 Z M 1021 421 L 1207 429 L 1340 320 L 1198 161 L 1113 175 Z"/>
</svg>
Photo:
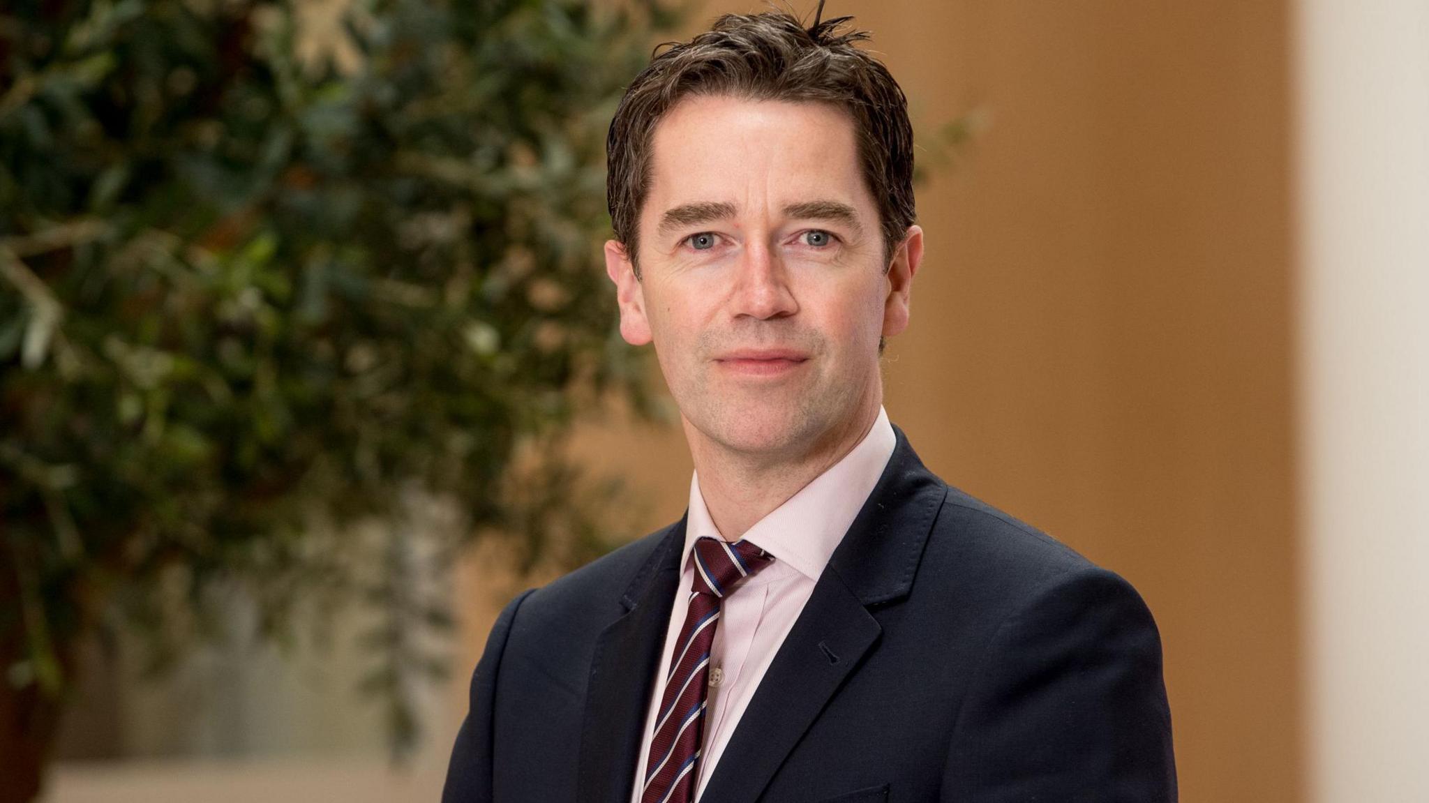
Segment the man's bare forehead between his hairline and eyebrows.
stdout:
<svg viewBox="0 0 1429 803">
<path fill-rule="evenodd" d="M 642 217 L 683 203 L 837 200 L 873 214 L 853 120 L 825 103 L 693 96 L 654 129 Z"/>
</svg>

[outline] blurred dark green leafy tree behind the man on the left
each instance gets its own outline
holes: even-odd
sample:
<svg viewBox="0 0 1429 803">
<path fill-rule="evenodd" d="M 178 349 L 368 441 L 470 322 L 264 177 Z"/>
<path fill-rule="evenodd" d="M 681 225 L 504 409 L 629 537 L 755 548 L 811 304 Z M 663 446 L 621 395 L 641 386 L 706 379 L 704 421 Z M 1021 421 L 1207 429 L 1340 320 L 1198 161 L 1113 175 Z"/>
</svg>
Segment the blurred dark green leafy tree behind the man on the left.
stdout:
<svg viewBox="0 0 1429 803">
<path fill-rule="evenodd" d="M 560 436 L 612 394 L 649 410 L 597 260 L 654 3 L 359 0 L 309 57 L 299 0 L 4 4 L 11 689 L 59 696 L 114 610 L 164 654 L 214 587 L 277 639 L 313 597 L 367 600 L 367 684 L 412 744 L 410 684 L 442 666 L 414 632 L 450 624 L 424 579 L 473 533 L 527 560 L 590 539 L 604 492 Z M 460 524 L 423 540 L 413 499 Z"/>
</svg>

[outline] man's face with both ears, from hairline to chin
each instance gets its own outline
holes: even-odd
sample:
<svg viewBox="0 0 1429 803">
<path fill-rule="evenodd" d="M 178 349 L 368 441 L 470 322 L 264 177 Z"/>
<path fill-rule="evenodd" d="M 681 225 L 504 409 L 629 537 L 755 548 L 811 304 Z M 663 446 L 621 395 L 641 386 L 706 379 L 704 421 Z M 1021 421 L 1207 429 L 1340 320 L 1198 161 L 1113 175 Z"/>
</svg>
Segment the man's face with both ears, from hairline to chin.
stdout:
<svg viewBox="0 0 1429 803">
<path fill-rule="evenodd" d="M 640 280 L 616 241 L 606 267 L 620 333 L 654 343 L 692 450 L 797 460 L 862 436 L 882 403 L 879 337 L 907 326 L 922 233 L 885 257 L 852 120 L 694 96 L 656 127 L 650 169 Z"/>
</svg>

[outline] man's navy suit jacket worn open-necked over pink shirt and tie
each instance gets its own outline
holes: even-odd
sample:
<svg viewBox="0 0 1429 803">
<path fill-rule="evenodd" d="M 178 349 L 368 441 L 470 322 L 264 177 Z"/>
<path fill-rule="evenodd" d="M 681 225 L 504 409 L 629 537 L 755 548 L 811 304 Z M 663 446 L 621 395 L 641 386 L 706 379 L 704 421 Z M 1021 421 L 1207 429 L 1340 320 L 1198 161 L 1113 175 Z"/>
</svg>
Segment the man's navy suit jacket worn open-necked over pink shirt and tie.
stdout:
<svg viewBox="0 0 1429 803">
<path fill-rule="evenodd" d="M 896 432 L 700 800 L 1176 800 L 1140 596 Z M 680 520 L 502 612 L 444 803 L 629 803 L 683 544 Z"/>
</svg>

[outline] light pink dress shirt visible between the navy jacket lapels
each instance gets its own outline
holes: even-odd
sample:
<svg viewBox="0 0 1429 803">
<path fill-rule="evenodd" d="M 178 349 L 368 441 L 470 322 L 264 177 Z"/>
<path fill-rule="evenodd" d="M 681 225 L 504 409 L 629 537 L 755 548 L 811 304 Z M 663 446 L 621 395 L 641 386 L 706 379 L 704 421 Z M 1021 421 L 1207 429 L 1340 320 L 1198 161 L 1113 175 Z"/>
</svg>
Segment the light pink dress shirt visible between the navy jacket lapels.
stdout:
<svg viewBox="0 0 1429 803">
<path fill-rule="evenodd" d="M 843 540 L 843 534 L 883 474 L 883 467 L 893 456 L 895 443 L 893 426 L 880 407 L 877 420 L 853 452 L 745 533 L 745 540 L 773 554 L 775 562 L 746 580 L 722 603 L 714 646 L 710 650 L 710 689 L 704 709 L 704 743 L 700 752 L 699 777 L 694 780 L 696 799 L 704 793 L 704 784 L 719 764 L 739 717 L 755 696 L 755 689 L 765 677 L 765 670 L 769 669 L 779 646 L 785 643 L 785 636 L 809 602 L 819 574 L 823 573 L 835 547 Z M 664 677 L 669 672 L 670 652 L 684 624 L 690 584 L 694 580 L 690 550 L 694 549 L 694 539 L 700 536 L 723 539 L 710 519 L 709 509 L 704 507 L 700 477 L 694 474 L 690 480 L 690 509 L 682 556 L 684 569 L 674 594 L 674 607 L 670 610 L 670 624 L 666 629 L 664 652 L 660 656 L 656 679 Z M 654 717 L 663 694 L 664 683 L 656 682 L 647 703 L 632 803 L 640 803 L 644 764 L 650 754 Z"/>
</svg>

